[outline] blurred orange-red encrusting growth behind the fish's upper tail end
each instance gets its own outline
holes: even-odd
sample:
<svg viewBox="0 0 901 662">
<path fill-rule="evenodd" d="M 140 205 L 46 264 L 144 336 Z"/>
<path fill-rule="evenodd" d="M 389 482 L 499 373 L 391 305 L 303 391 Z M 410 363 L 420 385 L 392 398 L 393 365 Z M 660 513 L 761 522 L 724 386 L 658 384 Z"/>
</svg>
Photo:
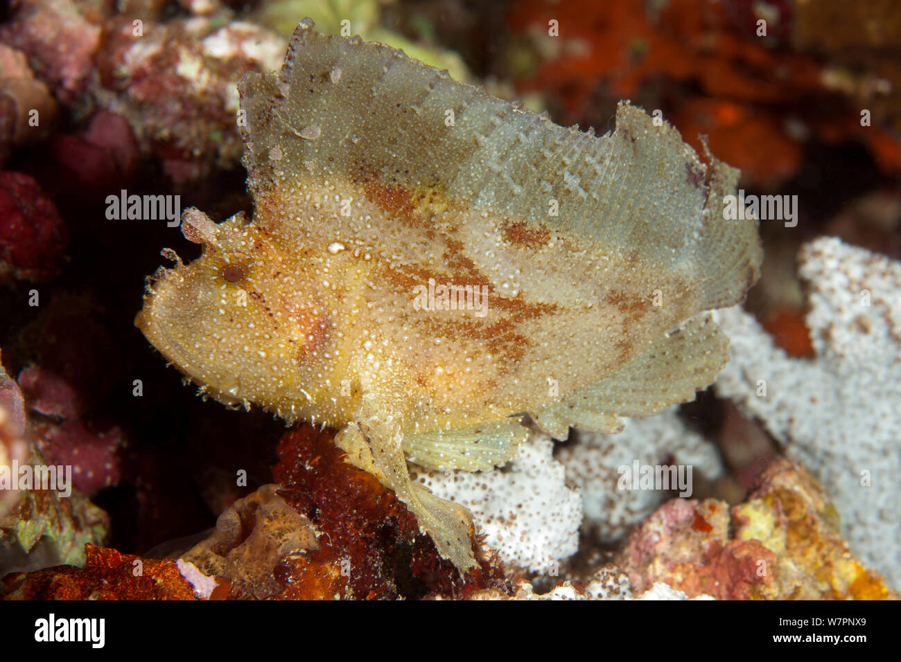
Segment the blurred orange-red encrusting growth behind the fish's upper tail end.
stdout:
<svg viewBox="0 0 901 662">
<path fill-rule="evenodd" d="M 828 84 L 821 59 L 784 44 L 774 47 L 778 23 L 769 22 L 769 37 L 757 37 L 755 22 L 745 30 L 725 5 L 517 3 L 507 17 L 514 31 L 546 33 L 556 20 L 563 44 L 519 87 L 554 91 L 566 121 L 580 122 L 597 105 L 598 88 L 616 100 L 642 98 L 652 86 L 662 91 L 664 117 L 686 141 L 699 149 L 698 132 L 708 135 L 711 150 L 741 168 L 751 186 L 778 186 L 791 177 L 802 161 L 804 134 L 825 142 L 860 141 L 884 172 L 901 171 L 901 141 L 878 122 L 860 125 L 860 103 Z M 789 130 L 793 123 L 804 127 L 800 134 Z"/>
</svg>

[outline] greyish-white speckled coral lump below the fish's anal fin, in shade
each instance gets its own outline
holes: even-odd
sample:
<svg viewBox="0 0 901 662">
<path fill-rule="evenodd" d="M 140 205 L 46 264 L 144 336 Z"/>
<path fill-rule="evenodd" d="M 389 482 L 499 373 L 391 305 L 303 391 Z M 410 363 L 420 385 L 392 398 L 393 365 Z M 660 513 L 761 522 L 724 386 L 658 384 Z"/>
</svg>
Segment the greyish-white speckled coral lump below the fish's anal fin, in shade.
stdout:
<svg viewBox="0 0 901 662">
<path fill-rule="evenodd" d="M 618 434 L 572 431 L 571 441 L 557 453 L 567 478 L 582 493 L 585 527 L 601 542 L 619 540 L 651 514 L 668 493 L 618 489 L 618 467 L 657 465 L 670 458 L 692 467 L 692 476 L 719 476 L 723 467 L 713 444 L 689 430 L 676 408 L 647 419 L 631 419 Z"/>
</svg>

